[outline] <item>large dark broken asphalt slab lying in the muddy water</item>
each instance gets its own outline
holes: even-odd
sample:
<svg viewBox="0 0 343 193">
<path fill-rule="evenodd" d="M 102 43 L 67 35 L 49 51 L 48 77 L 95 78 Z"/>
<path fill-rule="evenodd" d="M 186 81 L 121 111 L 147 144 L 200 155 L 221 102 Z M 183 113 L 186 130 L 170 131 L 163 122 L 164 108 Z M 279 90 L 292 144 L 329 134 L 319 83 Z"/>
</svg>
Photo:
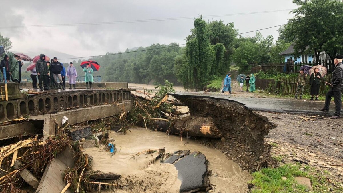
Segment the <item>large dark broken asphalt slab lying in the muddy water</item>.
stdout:
<svg viewBox="0 0 343 193">
<path fill-rule="evenodd" d="M 207 173 L 206 157 L 201 152 L 193 152 L 174 163 L 181 180 L 180 192 L 202 188 Z"/>
</svg>

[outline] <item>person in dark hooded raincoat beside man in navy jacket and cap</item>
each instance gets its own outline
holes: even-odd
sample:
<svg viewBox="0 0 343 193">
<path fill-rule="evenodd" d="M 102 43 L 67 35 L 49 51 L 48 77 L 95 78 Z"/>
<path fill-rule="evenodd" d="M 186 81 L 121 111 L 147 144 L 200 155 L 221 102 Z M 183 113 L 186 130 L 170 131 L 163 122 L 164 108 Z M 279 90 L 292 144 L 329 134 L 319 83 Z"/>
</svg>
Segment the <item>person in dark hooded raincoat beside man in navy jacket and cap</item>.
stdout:
<svg viewBox="0 0 343 193">
<path fill-rule="evenodd" d="M 40 54 L 39 60 L 36 62 L 36 72 L 38 75 L 38 86 L 39 90 L 43 91 L 43 85 L 44 84 L 44 90 L 50 90 L 48 88 L 48 77 L 50 76 L 49 68 L 47 66 L 47 62 L 45 61 L 45 55 Z"/>
</svg>

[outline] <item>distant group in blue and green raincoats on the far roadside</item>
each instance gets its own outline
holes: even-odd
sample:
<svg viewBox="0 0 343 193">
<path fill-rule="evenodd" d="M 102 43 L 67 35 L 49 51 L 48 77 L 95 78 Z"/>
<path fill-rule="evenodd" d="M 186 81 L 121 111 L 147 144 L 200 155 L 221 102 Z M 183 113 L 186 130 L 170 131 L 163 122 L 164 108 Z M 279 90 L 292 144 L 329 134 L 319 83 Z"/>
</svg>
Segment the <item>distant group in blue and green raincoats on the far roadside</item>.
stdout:
<svg viewBox="0 0 343 193">
<path fill-rule="evenodd" d="M 245 79 L 243 76 L 240 77 L 240 79 L 238 80 L 239 86 L 240 86 L 239 92 L 243 92 L 244 81 L 246 82 L 247 92 L 256 91 L 256 88 L 255 88 L 256 79 L 255 79 L 254 75 L 251 74 L 251 77 L 249 75 L 247 75 Z M 232 94 L 232 92 L 231 92 L 231 74 L 229 72 L 227 72 L 227 75 L 224 79 L 224 88 L 222 89 L 222 93 L 224 93 L 224 92 L 229 92 L 229 94 Z"/>
</svg>

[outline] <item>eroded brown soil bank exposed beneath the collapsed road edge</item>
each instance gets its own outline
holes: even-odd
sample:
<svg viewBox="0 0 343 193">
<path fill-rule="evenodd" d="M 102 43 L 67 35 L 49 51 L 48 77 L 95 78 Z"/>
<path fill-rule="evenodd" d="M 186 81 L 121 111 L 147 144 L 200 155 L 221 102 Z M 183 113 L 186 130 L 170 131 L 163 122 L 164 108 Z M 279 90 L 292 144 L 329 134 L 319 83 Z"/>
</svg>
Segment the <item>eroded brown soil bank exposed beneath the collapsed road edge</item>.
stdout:
<svg viewBox="0 0 343 193">
<path fill-rule="evenodd" d="M 173 96 L 189 107 L 192 116 L 211 117 L 223 134 L 221 140 L 203 138 L 204 145 L 222 149 L 245 170 L 267 166 L 270 145 L 264 143 L 264 137 L 275 127 L 267 117 L 253 113 L 236 101 Z"/>
</svg>

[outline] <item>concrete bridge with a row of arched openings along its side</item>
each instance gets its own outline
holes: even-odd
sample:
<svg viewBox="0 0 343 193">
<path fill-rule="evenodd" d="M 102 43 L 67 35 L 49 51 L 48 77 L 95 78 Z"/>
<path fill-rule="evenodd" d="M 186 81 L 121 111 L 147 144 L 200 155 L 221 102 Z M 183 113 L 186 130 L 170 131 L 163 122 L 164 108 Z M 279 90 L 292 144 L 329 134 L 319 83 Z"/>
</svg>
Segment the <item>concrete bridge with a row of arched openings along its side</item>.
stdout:
<svg viewBox="0 0 343 193">
<path fill-rule="evenodd" d="M 0 126 L 0 140 L 32 134 L 54 135 L 63 116 L 69 118 L 69 124 L 77 124 L 132 109 L 128 83 L 93 83 L 95 89 L 92 90 L 83 89 L 85 83 L 79 83 L 78 89 L 37 90 L 34 94 L 26 89 L 32 88 L 32 84 L 21 83 L 20 86 L 23 92 L 18 83 L 8 83 L 9 100 L 0 102 L 0 122 L 21 116 L 28 118 L 21 123 Z"/>
</svg>

